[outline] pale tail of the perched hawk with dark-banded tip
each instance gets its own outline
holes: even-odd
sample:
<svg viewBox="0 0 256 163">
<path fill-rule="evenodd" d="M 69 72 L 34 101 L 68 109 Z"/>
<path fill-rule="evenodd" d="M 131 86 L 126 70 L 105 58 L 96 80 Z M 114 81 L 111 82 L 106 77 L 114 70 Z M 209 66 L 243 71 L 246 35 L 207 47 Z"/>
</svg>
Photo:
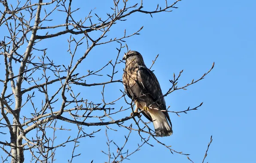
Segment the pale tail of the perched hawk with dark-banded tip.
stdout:
<svg viewBox="0 0 256 163">
<path fill-rule="evenodd" d="M 160 110 L 149 110 L 155 128 L 156 136 L 171 136 L 173 131 L 167 119 L 165 118 L 165 114 Z"/>
</svg>

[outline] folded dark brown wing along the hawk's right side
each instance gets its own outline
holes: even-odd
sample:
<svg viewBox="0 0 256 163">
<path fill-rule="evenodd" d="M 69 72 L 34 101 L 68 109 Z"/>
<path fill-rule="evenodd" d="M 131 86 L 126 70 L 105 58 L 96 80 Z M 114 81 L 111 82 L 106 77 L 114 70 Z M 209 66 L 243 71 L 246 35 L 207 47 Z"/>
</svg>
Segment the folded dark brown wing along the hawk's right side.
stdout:
<svg viewBox="0 0 256 163">
<path fill-rule="evenodd" d="M 162 90 L 160 87 L 160 84 L 155 77 L 155 74 L 148 69 L 146 66 L 140 66 L 137 71 L 137 83 L 140 85 L 141 89 L 144 89 L 147 94 L 152 98 L 152 100 L 155 102 L 158 100 L 159 97 L 161 97 Z M 159 107 L 160 110 L 166 110 L 166 104 L 165 99 L 162 97 L 156 102 L 156 105 Z M 165 117 L 171 124 L 170 117 L 168 115 L 168 112 L 163 112 L 165 114 Z"/>
</svg>

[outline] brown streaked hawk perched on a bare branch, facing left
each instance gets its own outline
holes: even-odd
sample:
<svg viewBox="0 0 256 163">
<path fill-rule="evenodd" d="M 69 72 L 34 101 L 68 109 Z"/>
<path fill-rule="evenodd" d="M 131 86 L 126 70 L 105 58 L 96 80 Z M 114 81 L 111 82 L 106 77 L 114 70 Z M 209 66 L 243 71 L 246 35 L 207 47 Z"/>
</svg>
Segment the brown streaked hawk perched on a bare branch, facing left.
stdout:
<svg viewBox="0 0 256 163">
<path fill-rule="evenodd" d="M 153 122 L 155 136 L 171 136 L 171 119 L 155 74 L 146 67 L 142 55 L 137 51 L 128 51 L 122 60 L 125 60 L 122 76 L 125 93 L 135 103 L 131 115 L 142 110 L 142 114 Z"/>
</svg>

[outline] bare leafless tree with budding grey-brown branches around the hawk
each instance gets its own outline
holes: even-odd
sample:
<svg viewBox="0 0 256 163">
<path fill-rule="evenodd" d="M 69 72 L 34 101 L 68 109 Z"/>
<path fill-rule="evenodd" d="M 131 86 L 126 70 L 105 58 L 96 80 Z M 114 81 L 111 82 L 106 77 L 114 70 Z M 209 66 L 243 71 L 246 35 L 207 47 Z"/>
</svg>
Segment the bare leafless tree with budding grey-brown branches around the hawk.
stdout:
<svg viewBox="0 0 256 163">
<path fill-rule="evenodd" d="M 81 154 L 81 151 L 76 151 L 79 141 L 86 140 L 83 139 L 85 137 L 96 136 L 94 139 L 97 139 L 98 132 L 106 135 L 108 151 L 102 152 L 108 156 L 108 163 L 129 159 L 143 145 L 153 146 L 149 139 L 162 144 L 171 153 L 187 157 L 188 154 L 175 151 L 160 142 L 149 122 L 125 112 L 131 112 L 134 104 L 122 88 L 120 74 L 124 64 L 120 59 L 129 50 L 125 39 L 139 35 L 143 27 L 132 33 L 124 30 L 122 36 L 114 36 L 113 33 L 111 37 L 108 36 L 114 25 L 129 19 L 131 15 L 141 13 L 138 18 L 143 18 L 158 12 L 171 12 L 177 8 L 179 1 L 166 0 L 162 2 L 164 5 L 147 10 L 142 0 L 113 0 L 111 6 L 106 6 L 111 7 L 111 12 L 105 15 L 98 15 L 93 9 L 83 12 L 84 15 L 76 15 L 79 9 L 72 7 L 72 0 L 0 0 L 0 148 L 5 153 L 1 156 L 2 161 L 53 162 L 58 148 L 65 148 L 71 143 L 73 151 L 68 161 L 72 162 Z M 58 16 L 52 16 L 54 14 L 65 19 L 58 19 Z M 67 40 L 64 46 L 54 46 L 55 51 L 60 48 L 67 50 L 66 54 L 53 54 L 47 49 L 46 40 L 54 38 Z M 78 67 L 86 67 L 86 57 L 93 55 L 93 49 L 114 42 L 118 46 L 112 60 L 101 60 L 104 65 L 95 61 L 97 69 L 87 67 L 89 70 L 79 71 Z M 183 71 L 178 75 L 170 74 L 171 86 L 164 96 L 180 89 L 185 90 L 200 81 L 213 66 L 201 78 L 193 79 L 184 86 L 177 84 Z M 105 80 L 106 76 L 108 80 Z M 116 85 L 117 91 L 122 88 L 119 97 L 106 89 L 108 85 Z M 99 88 L 102 89 L 101 96 L 91 100 L 93 91 Z M 116 103 L 122 103 L 122 107 Z M 180 112 L 168 112 L 179 115 L 196 110 L 201 105 Z M 72 131 L 66 124 L 72 124 Z M 108 131 L 114 130 L 116 134 L 124 136 L 118 131 L 120 127 L 126 129 L 128 135 L 125 136 L 125 142 L 117 144 L 112 140 L 114 138 L 108 136 Z M 67 130 L 70 135 L 65 135 L 66 141 L 56 142 L 56 132 L 63 130 Z M 140 139 L 137 140 L 137 147 L 128 151 L 125 145 L 132 132 Z M 3 135 L 8 139 L 2 139 Z M 31 157 L 24 158 L 25 152 L 30 153 Z"/>
</svg>

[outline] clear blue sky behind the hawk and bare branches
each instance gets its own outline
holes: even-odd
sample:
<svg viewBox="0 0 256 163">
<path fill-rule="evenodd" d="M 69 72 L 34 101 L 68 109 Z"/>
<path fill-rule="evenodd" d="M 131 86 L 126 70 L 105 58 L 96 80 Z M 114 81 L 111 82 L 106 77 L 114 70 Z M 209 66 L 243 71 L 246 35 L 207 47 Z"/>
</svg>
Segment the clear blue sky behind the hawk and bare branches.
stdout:
<svg viewBox="0 0 256 163">
<path fill-rule="evenodd" d="M 148 9 L 155 9 L 155 3 L 144 4 Z M 110 12 L 112 1 L 111 3 L 107 1 L 103 3 L 100 0 L 73 2 L 73 9 L 80 6 L 83 10 L 77 15 L 81 18 L 88 15 L 89 9 L 94 7 L 96 8 L 93 12 L 106 16 L 106 12 Z M 174 91 L 165 97 L 167 106 L 170 105 L 173 111 L 181 111 L 189 106 L 195 107 L 201 102 L 204 104 L 197 111 L 191 111 L 188 114 L 181 113 L 180 117 L 170 114 L 174 134 L 160 140 L 167 145 L 172 145 L 176 151 L 191 154 L 190 159 L 198 163 L 202 162 L 210 136 L 213 135 L 206 162 L 256 163 L 256 1 L 182 0 L 176 6 L 179 8 L 174 9 L 173 12 L 154 14 L 153 18 L 146 14 L 131 15 L 127 21 L 117 23 L 112 33 L 110 32 L 112 36 L 114 34 L 121 36 L 124 29 L 127 33 L 133 33 L 144 26 L 140 35 L 126 39 L 126 43 L 131 50 L 139 51 L 143 55 L 147 66 L 150 66 L 152 60 L 159 54 L 152 69 L 155 70 L 154 73 L 164 93 L 171 86 L 169 79 L 172 79 L 173 72 L 178 74 L 184 69 L 178 83 L 183 86 L 191 82 L 193 78 L 200 78 L 215 62 L 213 71 L 203 80 L 190 86 L 186 91 Z M 58 12 L 55 16 L 58 16 Z M 62 23 L 64 19 L 60 18 L 59 21 Z M 69 35 L 49 39 L 38 46 L 48 47 L 48 53 L 56 54 L 55 56 L 57 54 L 67 56 L 67 38 Z M 108 60 L 114 59 L 115 48 L 118 46 L 117 43 L 113 43 L 94 49 L 84 60 L 83 66 L 79 67 L 78 72 L 85 73 L 87 69 L 96 70 Z M 79 52 L 82 54 L 85 49 L 86 47 L 79 49 Z M 53 54 L 53 59 L 58 58 L 56 62 L 66 62 L 59 57 L 55 58 Z M 123 66 L 117 67 L 119 73 L 116 79 L 122 78 Z M 107 81 L 107 79 L 108 77 L 104 77 L 99 80 Z M 93 82 L 93 78 L 91 81 L 88 78 L 87 81 Z M 112 92 L 112 95 L 108 94 L 107 100 L 119 97 L 121 95 L 119 88 L 123 90 L 122 84 L 107 86 L 106 90 Z M 83 96 L 100 102 L 101 90 L 101 86 L 86 88 Z M 124 101 L 120 101 L 116 106 L 122 106 L 122 103 Z M 126 113 L 127 115 L 116 117 L 116 119 L 128 116 L 130 111 Z M 128 123 L 132 123 L 132 120 Z M 76 127 L 64 122 L 58 124 L 59 126 L 66 125 L 67 128 Z M 110 139 L 122 143 L 123 133 L 127 133 L 127 130 L 122 130 L 116 125 L 111 127 L 119 129 L 119 132 L 109 131 Z M 90 127 L 88 130 L 99 128 Z M 107 156 L 101 152 L 101 150 L 107 151 L 107 139 L 104 132 L 105 127 L 102 127 L 101 132 L 97 133 L 95 138 L 80 141 L 78 149 L 81 152 L 77 153 L 82 153 L 82 155 L 76 158 L 76 162 L 107 161 Z M 64 137 L 66 133 L 70 134 L 68 131 L 60 131 L 57 136 Z M 140 137 L 138 133 L 133 132 L 131 138 L 132 141 L 130 140 L 128 148 L 133 149 L 140 142 Z M 171 154 L 168 149 L 157 142 L 153 140 L 150 142 L 155 146 L 144 145 L 140 151 L 130 157 L 130 162 L 189 163 L 186 156 Z M 70 159 L 71 154 L 68 151 L 73 144 L 67 147 L 59 149 L 56 162 L 66 162 Z M 116 147 L 114 145 L 112 147 L 115 153 Z"/>
</svg>

